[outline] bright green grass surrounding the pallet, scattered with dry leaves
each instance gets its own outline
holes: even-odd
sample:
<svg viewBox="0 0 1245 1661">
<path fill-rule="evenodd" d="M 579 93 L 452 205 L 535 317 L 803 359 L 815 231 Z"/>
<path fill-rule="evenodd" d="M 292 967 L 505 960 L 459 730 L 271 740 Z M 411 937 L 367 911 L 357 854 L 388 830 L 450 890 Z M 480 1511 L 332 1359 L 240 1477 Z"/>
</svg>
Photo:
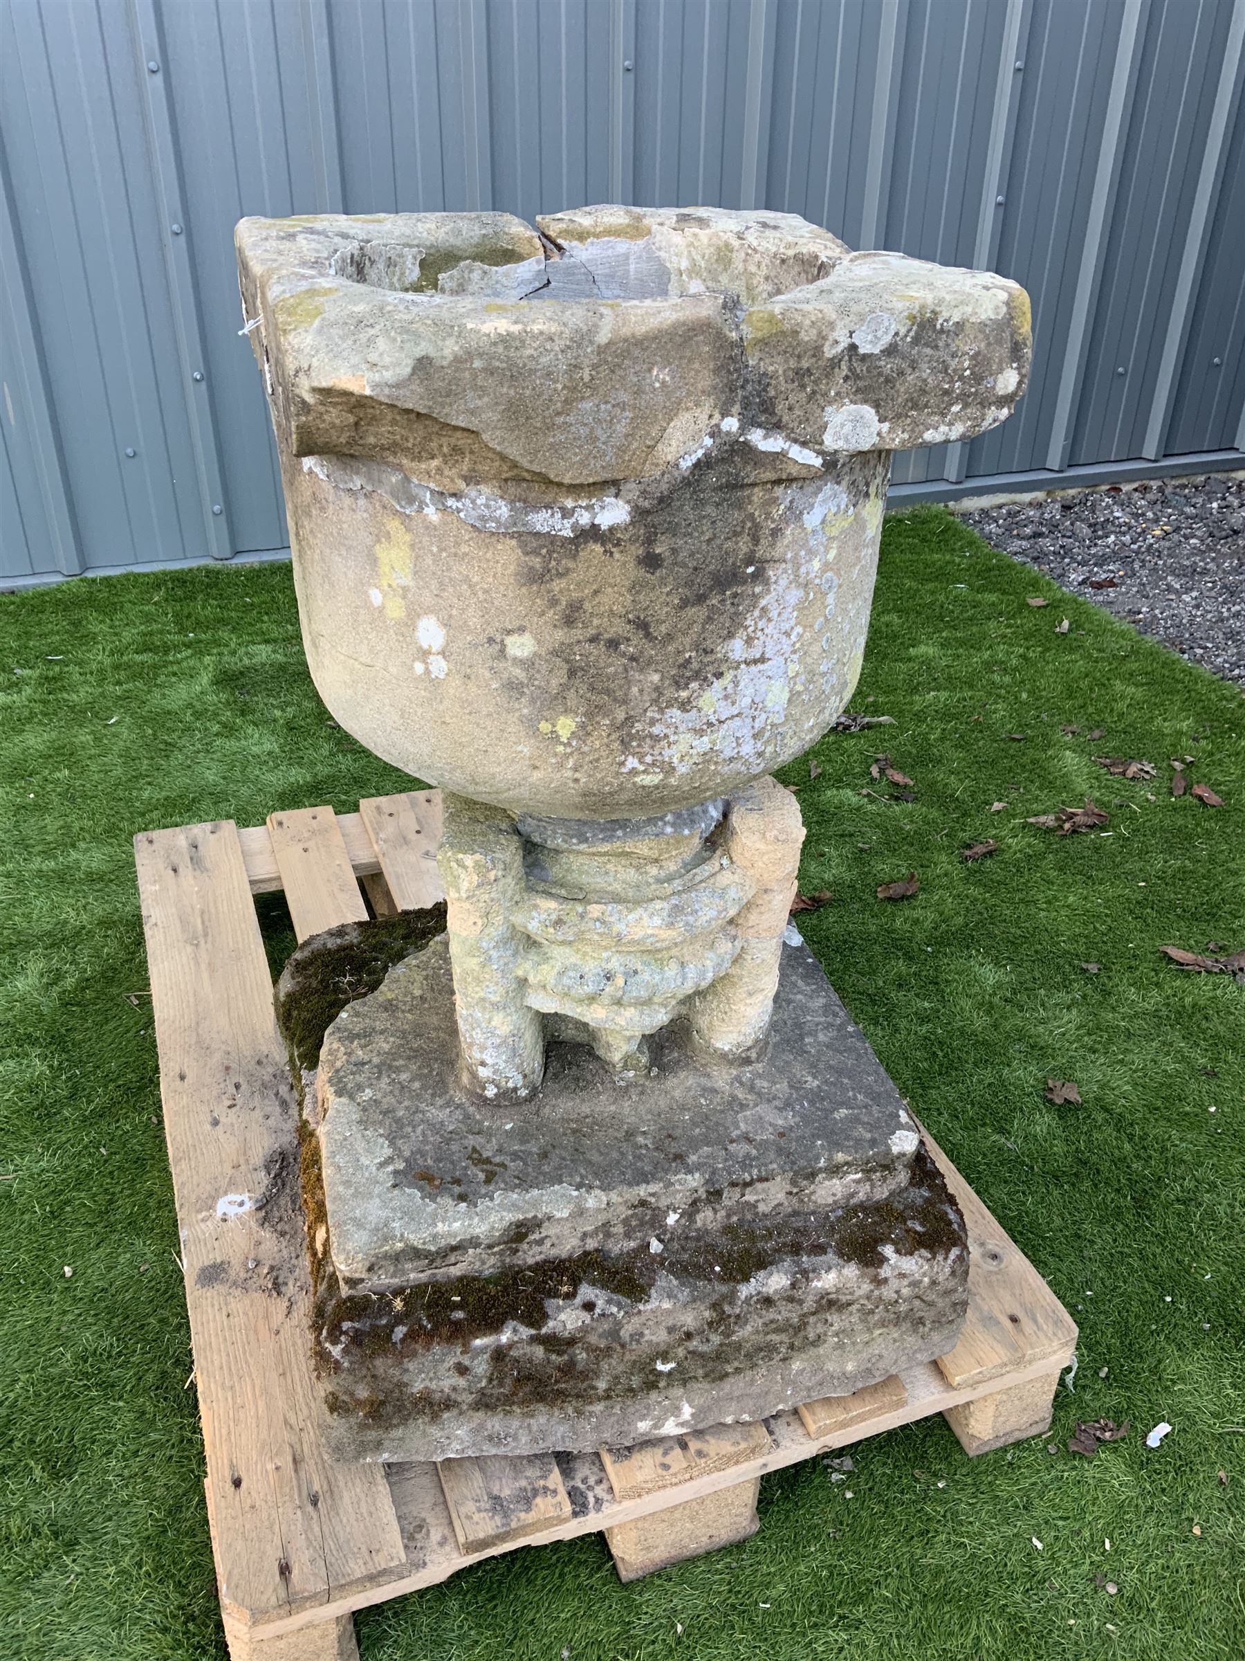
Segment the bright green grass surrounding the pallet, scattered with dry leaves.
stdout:
<svg viewBox="0 0 1245 1661">
<path fill-rule="evenodd" d="M 403 781 L 329 723 L 284 566 L 78 581 L 0 620 L 0 1653 L 198 1661 L 224 1651 L 129 837 Z M 888 523 L 853 708 L 895 726 L 785 771 L 803 889 L 835 894 L 802 924 L 1081 1322 L 1052 1438 L 968 1460 L 936 1420 L 858 1445 L 850 1482 L 810 1460 L 765 1480 L 754 1540 L 636 1586 L 598 1538 L 518 1551 L 364 1613 L 365 1661 L 1240 1661 L 1245 987 L 1157 950 L 1245 945 L 1240 689 L 926 510 Z M 878 799 L 881 749 L 913 802 Z M 1225 809 L 1170 799 L 1185 754 Z M 1024 822 L 1087 792 L 1111 835 Z M 910 870 L 916 899 L 875 897 Z M 1127 1440 L 1069 1455 L 1097 1415 Z"/>
</svg>

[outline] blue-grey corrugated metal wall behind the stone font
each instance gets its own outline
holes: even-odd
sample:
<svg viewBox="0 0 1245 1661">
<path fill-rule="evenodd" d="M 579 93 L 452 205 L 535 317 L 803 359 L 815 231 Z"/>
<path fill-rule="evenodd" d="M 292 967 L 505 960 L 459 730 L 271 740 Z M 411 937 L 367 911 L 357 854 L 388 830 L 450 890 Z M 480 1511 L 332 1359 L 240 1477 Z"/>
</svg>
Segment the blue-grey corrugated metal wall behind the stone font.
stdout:
<svg viewBox="0 0 1245 1661">
<path fill-rule="evenodd" d="M 286 541 L 242 214 L 719 203 L 991 266 L 900 497 L 1245 465 L 1245 0 L 0 0 L 0 576 Z"/>
</svg>

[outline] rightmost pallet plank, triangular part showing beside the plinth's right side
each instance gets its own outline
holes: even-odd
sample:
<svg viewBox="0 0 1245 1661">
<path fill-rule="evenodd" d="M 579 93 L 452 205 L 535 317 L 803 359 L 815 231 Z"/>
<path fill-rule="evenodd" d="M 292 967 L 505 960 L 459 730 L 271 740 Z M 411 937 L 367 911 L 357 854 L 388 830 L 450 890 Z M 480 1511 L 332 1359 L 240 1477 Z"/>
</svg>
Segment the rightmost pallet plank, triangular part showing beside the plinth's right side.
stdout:
<svg viewBox="0 0 1245 1661">
<path fill-rule="evenodd" d="M 968 1317 L 959 1342 L 938 1359 L 946 1382 L 968 1389 L 1036 1362 L 1071 1357 L 1076 1320 L 925 1126 L 921 1136 L 968 1224 Z"/>
</svg>

